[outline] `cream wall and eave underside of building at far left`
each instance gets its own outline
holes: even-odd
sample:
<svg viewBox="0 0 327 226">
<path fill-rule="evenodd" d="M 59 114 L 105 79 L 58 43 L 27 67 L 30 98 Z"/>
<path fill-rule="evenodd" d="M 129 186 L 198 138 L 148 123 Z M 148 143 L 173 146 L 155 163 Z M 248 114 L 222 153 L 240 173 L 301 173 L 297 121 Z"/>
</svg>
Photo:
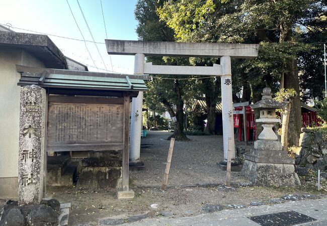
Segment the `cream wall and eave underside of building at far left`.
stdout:
<svg viewBox="0 0 327 226">
<path fill-rule="evenodd" d="M 0 47 L 0 199 L 15 198 L 18 192 L 20 74 L 16 64 L 45 67 L 25 50 Z"/>
</svg>

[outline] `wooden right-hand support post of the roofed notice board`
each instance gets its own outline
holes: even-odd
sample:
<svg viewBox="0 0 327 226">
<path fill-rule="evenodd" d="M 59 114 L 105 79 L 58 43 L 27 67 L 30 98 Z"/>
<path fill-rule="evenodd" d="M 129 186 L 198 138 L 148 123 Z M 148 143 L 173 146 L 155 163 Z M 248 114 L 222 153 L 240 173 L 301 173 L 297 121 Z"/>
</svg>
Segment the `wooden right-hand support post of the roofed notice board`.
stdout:
<svg viewBox="0 0 327 226">
<path fill-rule="evenodd" d="M 128 191 L 128 161 L 129 161 L 129 95 L 124 95 L 124 132 L 123 132 L 123 191 Z"/>
</svg>

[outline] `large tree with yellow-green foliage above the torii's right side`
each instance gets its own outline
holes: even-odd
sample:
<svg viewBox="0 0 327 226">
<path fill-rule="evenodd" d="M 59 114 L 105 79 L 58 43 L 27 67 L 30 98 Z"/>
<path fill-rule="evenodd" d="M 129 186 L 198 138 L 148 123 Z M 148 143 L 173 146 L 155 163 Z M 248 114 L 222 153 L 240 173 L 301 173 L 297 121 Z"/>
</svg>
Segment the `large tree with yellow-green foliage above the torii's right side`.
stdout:
<svg viewBox="0 0 327 226">
<path fill-rule="evenodd" d="M 259 100 L 261 92 L 255 88 L 262 85 L 293 88 L 298 93 L 289 127 L 289 144 L 298 145 L 301 107 L 297 53 L 308 51 L 310 46 L 302 45 L 297 29 L 303 31 L 325 9 L 325 1 L 316 0 L 169 0 L 158 13 L 182 40 L 260 43 L 259 57 L 243 65 L 248 76 L 255 76 L 249 78 L 254 81 L 254 100 Z"/>
</svg>

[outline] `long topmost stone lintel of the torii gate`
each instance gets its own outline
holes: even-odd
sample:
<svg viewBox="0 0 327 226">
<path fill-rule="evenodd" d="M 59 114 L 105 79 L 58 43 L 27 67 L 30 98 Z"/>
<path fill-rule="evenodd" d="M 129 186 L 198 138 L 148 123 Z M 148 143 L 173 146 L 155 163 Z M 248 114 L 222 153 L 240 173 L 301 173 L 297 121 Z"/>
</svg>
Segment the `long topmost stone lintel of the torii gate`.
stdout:
<svg viewBox="0 0 327 226">
<path fill-rule="evenodd" d="M 106 39 L 108 54 L 145 56 L 186 56 L 255 58 L 258 56 L 257 44 L 154 42 Z"/>
</svg>

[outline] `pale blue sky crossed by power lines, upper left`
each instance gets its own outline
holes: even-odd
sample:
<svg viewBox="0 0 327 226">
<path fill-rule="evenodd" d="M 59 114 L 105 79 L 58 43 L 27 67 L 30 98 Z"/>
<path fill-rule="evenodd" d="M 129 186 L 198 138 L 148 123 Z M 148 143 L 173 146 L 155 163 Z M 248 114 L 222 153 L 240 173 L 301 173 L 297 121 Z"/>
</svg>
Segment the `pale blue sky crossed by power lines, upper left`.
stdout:
<svg viewBox="0 0 327 226">
<path fill-rule="evenodd" d="M 106 32 L 102 17 L 100 0 L 78 0 L 96 42 L 104 43 Z M 102 0 L 103 13 L 107 27 L 108 39 L 137 40 L 134 19 L 134 8 L 137 0 Z M 53 34 L 74 39 L 81 39 L 66 0 L 0 0 L 0 24 L 11 24 L 13 27 L 31 31 Z M 86 40 L 92 41 L 84 18 L 76 0 L 68 0 L 72 13 Z M 13 29 L 16 32 L 29 31 Z M 111 55 L 104 44 L 98 44 L 101 57 L 94 43 L 85 43 L 54 36 L 49 36 L 64 55 L 85 63 L 90 71 L 112 70 L 119 73 L 133 73 L 134 56 Z M 112 65 L 112 66 L 111 66 Z"/>
</svg>

